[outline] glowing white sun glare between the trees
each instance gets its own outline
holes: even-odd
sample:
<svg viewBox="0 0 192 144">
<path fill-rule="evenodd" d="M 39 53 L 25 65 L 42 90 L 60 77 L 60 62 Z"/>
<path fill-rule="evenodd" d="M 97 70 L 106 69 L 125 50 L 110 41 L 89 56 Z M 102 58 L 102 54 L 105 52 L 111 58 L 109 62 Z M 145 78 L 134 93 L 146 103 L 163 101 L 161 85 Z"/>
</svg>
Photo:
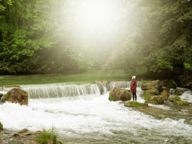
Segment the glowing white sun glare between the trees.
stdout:
<svg viewBox="0 0 192 144">
<path fill-rule="evenodd" d="M 118 49 L 129 48 L 130 37 L 138 32 L 135 3 L 132 0 L 63 1 L 56 11 L 60 11 L 59 32 L 66 35 L 64 44 L 77 49 L 83 57 L 105 65 L 114 59 Z"/>
</svg>

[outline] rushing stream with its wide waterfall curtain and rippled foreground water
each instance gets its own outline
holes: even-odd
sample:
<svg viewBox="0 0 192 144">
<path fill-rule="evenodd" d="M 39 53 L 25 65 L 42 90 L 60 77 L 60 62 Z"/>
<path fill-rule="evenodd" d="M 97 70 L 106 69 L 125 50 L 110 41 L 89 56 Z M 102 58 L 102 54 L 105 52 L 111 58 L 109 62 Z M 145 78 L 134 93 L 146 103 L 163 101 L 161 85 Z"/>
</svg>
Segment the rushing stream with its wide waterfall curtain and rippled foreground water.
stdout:
<svg viewBox="0 0 192 144">
<path fill-rule="evenodd" d="M 29 106 L 0 105 L 0 121 L 10 130 L 53 129 L 66 142 L 192 143 L 192 126 L 184 120 L 157 120 L 110 102 L 96 84 L 23 86 Z M 140 88 L 137 89 L 141 93 Z"/>
</svg>

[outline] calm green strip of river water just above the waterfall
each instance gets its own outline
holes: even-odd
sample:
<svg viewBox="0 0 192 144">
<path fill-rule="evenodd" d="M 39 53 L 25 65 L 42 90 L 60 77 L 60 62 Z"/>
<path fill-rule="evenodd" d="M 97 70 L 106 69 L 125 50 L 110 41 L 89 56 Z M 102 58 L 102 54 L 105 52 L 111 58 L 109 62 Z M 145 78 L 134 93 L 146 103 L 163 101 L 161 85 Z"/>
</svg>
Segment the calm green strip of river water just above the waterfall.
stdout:
<svg viewBox="0 0 192 144">
<path fill-rule="evenodd" d="M 98 80 L 129 80 L 130 76 L 123 72 L 87 72 L 81 74 L 38 74 L 38 75 L 19 75 L 19 76 L 0 76 L 0 86 L 13 86 L 25 84 L 45 84 L 45 83 L 64 83 L 64 82 L 95 82 Z"/>
</svg>

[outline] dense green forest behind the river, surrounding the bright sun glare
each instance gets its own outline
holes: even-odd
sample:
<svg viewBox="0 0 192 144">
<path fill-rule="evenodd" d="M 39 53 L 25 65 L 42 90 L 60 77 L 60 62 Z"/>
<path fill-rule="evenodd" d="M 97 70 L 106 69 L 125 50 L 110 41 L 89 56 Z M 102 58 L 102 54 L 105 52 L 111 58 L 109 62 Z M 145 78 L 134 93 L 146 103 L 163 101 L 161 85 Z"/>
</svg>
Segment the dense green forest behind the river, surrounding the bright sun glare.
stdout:
<svg viewBox="0 0 192 144">
<path fill-rule="evenodd" d="M 192 69 L 192 1 L 122 0 L 124 23 L 110 40 L 82 38 L 66 3 L 0 0 L 1 74 Z"/>
</svg>

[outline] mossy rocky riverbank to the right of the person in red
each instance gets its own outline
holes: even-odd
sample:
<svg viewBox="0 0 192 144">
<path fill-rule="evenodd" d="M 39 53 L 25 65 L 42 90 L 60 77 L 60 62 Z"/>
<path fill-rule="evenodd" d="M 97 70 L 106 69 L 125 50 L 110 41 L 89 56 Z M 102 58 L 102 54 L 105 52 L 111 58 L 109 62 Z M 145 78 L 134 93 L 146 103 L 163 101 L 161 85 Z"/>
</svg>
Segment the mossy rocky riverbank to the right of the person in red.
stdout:
<svg viewBox="0 0 192 144">
<path fill-rule="evenodd" d="M 192 125 L 192 103 L 181 98 L 186 89 L 177 87 L 174 81 L 159 80 L 145 81 L 141 88 L 143 90 L 141 97 L 144 102 L 133 102 L 128 99 L 128 101 L 123 102 L 124 106 L 157 119 L 170 118 Z M 114 90 L 117 91 L 117 89 Z M 110 92 L 109 99 L 111 99 L 114 90 Z M 122 101 L 120 98 L 118 100 Z"/>
</svg>

